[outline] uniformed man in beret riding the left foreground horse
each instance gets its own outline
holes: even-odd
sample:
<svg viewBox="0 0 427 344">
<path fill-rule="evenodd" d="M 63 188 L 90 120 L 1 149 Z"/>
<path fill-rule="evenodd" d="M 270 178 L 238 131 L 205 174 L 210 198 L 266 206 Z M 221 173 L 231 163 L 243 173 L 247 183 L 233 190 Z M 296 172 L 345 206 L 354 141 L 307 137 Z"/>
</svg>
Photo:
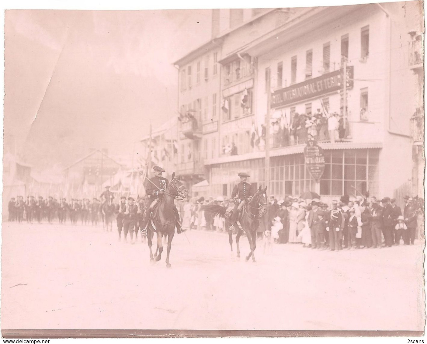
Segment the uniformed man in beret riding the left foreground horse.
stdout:
<svg viewBox="0 0 427 344">
<path fill-rule="evenodd" d="M 153 170 L 154 170 L 155 176 L 152 178 L 149 178 L 149 180 L 145 184 L 146 185 L 145 190 L 147 195 L 149 195 L 149 200 L 148 200 L 147 208 L 145 210 L 145 214 L 143 215 L 144 229 L 146 229 L 147 227 L 148 221 L 151 216 L 151 212 L 154 210 L 155 206 L 163 198 L 166 188 L 169 185 L 169 181 L 166 178 L 162 177 L 162 173 L 166 172 L 164 169 L 162 169 L 159 166 L 154 166 Z M 187 228 L 181 228 L 178 209 L 176 209 L 175 205 L 173 207 L 173 210 L 175 212 L 175 216 L 177 219 L 176 233 L 180 234 L 182 232 L 185 232 Z"/>
</svg>

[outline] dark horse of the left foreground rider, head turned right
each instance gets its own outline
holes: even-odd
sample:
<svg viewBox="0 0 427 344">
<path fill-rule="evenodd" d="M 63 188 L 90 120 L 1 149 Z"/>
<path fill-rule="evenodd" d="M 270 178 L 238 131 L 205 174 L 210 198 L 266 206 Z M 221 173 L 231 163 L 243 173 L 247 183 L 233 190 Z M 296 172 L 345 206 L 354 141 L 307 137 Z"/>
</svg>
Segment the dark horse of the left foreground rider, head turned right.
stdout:
<svg viewBox="0 0 427 344">
<path fill-rule="evenodd" d="M 152 211 L 151 219 L 148 219 L 149 225 L 147 226 L 147 239 L 148 247 L 150 248 L 150 260 L 158 262 L 161 259 L 161 253 L 163 252 L 163 243 L 162 236 L 167 234 L 167 256 L 166 256 L 166 266 L 171 267 L 169 263 L 169 254 L 170 254 L 170 245 L 172 244 L 173 236 L 175 235 L 175 224 L 178 219 L 175 217 L 174 212 L 174 202 L 176 199 L 184 199 L 187 197 L 188 190 L 185 188 L 185 185 L 180 181 L 181 175 L 178 178 L 175 178 L 175 172 L 172 175 L 172 180 L 168 184 L 163 198 Z M 156 256 L 153 256 L 151 249 L 152 239 L 153 239 L 153 227 L 155 226 L 155 231 L 157 234 L 157 250 Z M 158 251 L 158 255 L 157 255 Z"/>
</svg>

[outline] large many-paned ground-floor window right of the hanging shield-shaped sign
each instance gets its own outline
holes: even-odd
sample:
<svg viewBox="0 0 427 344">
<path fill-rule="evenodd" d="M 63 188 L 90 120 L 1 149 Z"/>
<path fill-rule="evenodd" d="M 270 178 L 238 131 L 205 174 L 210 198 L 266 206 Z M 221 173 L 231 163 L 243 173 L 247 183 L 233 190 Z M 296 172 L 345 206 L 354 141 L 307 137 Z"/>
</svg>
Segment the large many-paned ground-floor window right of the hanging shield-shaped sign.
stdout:
<svg viewBox="0 0 427 344">
<path fill-rule="evenodd" d="M 378 192 L 378 156 L 377 149 L 325 152 L 320 194 L 357 195 L 369 190 L 375 195 Z"/>
</svg>

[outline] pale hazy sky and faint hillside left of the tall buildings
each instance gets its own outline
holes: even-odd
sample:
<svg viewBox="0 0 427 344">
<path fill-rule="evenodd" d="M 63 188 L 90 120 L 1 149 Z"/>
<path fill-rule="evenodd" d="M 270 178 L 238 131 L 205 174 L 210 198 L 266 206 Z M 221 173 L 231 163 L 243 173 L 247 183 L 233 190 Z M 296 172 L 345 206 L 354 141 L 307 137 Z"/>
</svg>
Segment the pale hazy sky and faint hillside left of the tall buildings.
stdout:
<svg viewBox="0 0 427 344">
<path fill-rule="evenodd" d="M 210 30 L 206 9 L 6 11 L 5 149 L 40 167 L 129 151 L 176 116 L 172 63 Z"/>
</svg>

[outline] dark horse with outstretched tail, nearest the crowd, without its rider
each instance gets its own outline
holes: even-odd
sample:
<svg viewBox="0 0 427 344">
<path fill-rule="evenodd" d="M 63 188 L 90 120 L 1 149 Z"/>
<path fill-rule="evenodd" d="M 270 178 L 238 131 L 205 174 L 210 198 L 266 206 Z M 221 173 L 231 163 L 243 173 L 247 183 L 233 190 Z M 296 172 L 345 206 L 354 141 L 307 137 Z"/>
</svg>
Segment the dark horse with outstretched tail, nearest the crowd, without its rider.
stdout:
<svg viewBox="0 0 427 344">
<path fill-rule="evenodd" d="M 240 224 L 242 225 L 242 229 L 240 229 L 237 224 L 234 226 L 237 228 L 236 235 L 236 246 L 237 246 L 237 257 L 240 257 L 240 247 L 239 240 L 240 236 L 243 234 L 243 231 L 246 233 L 249 241 L 249 247 L 251 248 L 251 252 L 246 257 L 246 262 L 252 256 L 252 261 L 255 262 L 254 251 L 256 248 L 256 239 L 257 239 L 257 229 L 259 226 L 259 219 L 262 217 L 267 211 L 267 195 L 266 190 L 262 189 L 261 186 L 255 192 L 254 197 L 252 197 L 250 202 L 245 203 L 243 207 L 243 214 L 239 216 Z M 225 228 L 228 230 L 228 240 L 230 242 L 231 252 L 233 252 L 233 232 L 230 230 L 231 221 L 228 216 L 225 215 L 225 211 L 227 207 L 221 207 L 220 205 L 206 205 L 202 207 L 205 212 L 212 213 L 213 216 L 219 214 L 219 216 L 225 218 Z"/>
</svg>

